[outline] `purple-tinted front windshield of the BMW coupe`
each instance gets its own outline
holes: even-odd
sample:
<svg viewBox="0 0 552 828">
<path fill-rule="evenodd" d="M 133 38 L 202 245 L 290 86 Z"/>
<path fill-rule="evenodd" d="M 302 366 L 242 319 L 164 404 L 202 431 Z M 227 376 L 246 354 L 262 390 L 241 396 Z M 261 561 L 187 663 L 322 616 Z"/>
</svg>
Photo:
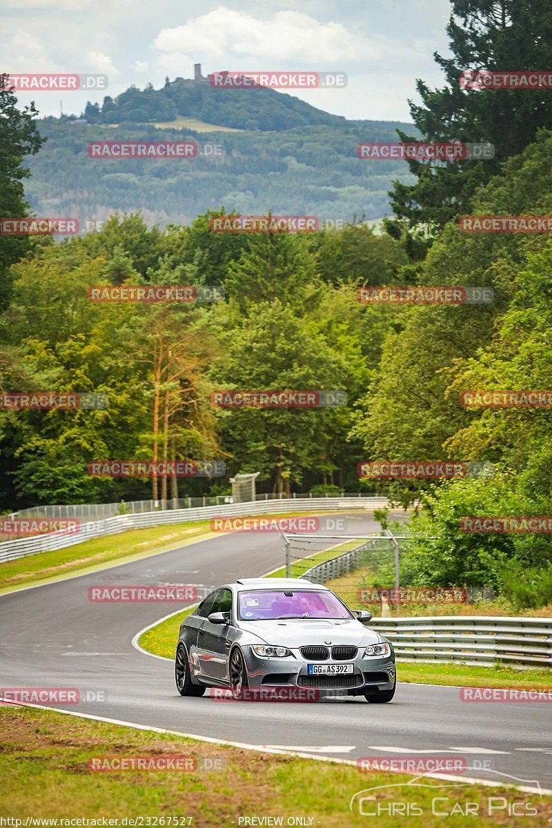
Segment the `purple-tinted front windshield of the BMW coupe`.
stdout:
<svg viewBox="0 0 552 828">
<path fill-rule="evenodd" d="M 350 619 L 351 614 L 326 590 L 252 590 L 239 595 L 242 621 L 276 619 Z"/>
</svg>

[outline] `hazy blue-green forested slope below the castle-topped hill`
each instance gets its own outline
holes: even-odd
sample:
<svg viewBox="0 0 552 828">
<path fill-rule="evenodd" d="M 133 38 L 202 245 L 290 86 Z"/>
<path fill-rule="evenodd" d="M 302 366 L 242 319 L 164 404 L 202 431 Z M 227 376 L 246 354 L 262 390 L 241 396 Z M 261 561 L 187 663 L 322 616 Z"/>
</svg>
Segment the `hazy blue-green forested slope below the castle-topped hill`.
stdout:
<svg viewBox="0 0 552 828">
<path fill-rule="evenodd" d="M 226 93 L 235 104 L 240 93 Z M 247 94 L 247 93 L 246 93 Z M 252 94 L 257 94 L 252 92 Z M 277 93 L 275 93 L 277 94 Z M 316 112 L 317 110 L 314 110 Z M 148 224 L 191 224 L 220 205 L 245 214 L 317 215 L 353 221 L 390 213 L 395 178 L 414 181 L 404 161 L 359 161 L 359 142 L 393 141 L 391 122 L 309 124 L 274 132 L 194 132 L 151 124 L 118 128 L 39 122 L 45 146 L 31 157 L 26 196 L 36 214 L 103 220 L 141 211 Z M 406 128 L 406 124 L 402 124 Z M 91 141 L 188 141 L 216 144 L 220 155 L 174 161 L 90 158 Z"/>
</svg>

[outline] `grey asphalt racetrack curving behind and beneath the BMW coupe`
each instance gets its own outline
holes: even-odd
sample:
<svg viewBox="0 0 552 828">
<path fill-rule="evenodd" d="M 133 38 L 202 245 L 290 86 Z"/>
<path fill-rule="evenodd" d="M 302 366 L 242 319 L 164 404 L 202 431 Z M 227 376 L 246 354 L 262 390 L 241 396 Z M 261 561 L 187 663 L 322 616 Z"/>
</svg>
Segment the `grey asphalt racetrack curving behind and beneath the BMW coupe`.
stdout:
<svg viewBox="0 0 552 828">
<path fill-rule="evenodd" d="M 359 534 L 379 531 L 371 513 L 347 517 Z M 233 533 L 2 595 L 0 687 L 78 688 L 78 705 L 57 706 L 314 757 L 355 762 L 366 756 L 462 755 L 473 768 L 471 777 L 552 788 L 552 727 L 546 703 L 467 703 L 460 700 L 458 688 L 400 681 L 387 705 L 369 705 L 362 696 L 315 704 L 222 702 L 213 700 L 209 691 L 202 698 L 183 698 L 175 688 L 173 662 L 132 646 L 139 630 L 179 607 L 88 599 L 93 585 L 190 584 L 203 595 L 228 580 L 274 570 L 283 558 L 276 533 Z M 400 663 L 397 674 L 400 680 Z M 98 692 L 103 700 L 97 699 Z"/>
</svg>

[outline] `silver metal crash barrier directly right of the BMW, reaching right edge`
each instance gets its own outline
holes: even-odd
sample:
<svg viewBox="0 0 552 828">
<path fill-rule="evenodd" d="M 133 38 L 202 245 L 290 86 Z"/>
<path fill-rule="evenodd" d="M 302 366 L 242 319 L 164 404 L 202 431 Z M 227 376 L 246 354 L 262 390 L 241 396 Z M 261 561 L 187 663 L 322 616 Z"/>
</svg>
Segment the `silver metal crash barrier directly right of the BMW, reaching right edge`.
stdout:
<svg viewBox="0 0 552 828">
<path fill-rule="evenodd" d="M 392 641 L 401 661 L 552 667 L 552 619 L 431 615 L 373 618 L 369 626 Z"/>
</svg>

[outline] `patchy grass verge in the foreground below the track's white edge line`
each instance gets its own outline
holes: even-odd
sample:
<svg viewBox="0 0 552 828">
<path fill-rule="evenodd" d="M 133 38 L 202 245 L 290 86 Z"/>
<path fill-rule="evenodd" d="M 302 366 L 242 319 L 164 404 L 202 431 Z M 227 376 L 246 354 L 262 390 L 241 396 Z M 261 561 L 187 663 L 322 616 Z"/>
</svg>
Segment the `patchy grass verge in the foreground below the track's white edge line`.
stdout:
<svg viewBox="0 0 552 828">
<path fill-rule="evenodd" d="M 196 701 L 199 705 L 214 704 L 209 699 Z M 183 718 L 183 728 L 191 724 Z M 436 787 L 409 788 L 405 782 L 412 777 L 402 774 L 367 773 L 350 765 L 257 753 L 12 705 L 0 707 L 0 742 L 2 787 L 9 792 L 0 804 L 4 819 L 149 816 L 158 819 L 158 826 L 232 828 L 243 816 L 282 817 L 284 825 L 288 817 L 302 816 L 307 826 L 360 828 L 367 825 L 367 817 L 361 816 L 358 808 L 349 811 L 350 798 L 369 787 L 392 785 L 367 792 L 376 801 L 365 802 L 364 807 L 368 811 L 378 806 L 382 809 L 377 817 L 380 828 L 391 828 L 397 825 L 397 818 L 400 820 L 388 813 L 394 802 L 416 802 L 422 809 L 422 816 L 408 819 L 414 828 L 440 826 L 443 817 L 432 813 L 434 797 L 447 797 L 439 800 L 435 810 L 452 811 L 455 807 L 456 813 L 447 818 L 451 828 L 512 825 L 504 808 L 488 816 L 488 797 L 501 795 L 536 808 L 537 815 L 530 817 L 535 828 L 550 825 L 552 820 L 550 797 L 540 801 L 535 794 L 465 786 L 461 776 L 458 786 L 442 787 L 439 780 L 425 777 L 420 781 Z M 89 770 L 92 758 L 159 758 L 160 754 L 193 756 L 198 766 L 204 767 L 217 760 L 222 768 L 165 773 Z M 449 786 L 450 782 L 444 784 Z M 478 803 L 478 816 L 459 812 L 467 802 Z M 168 817 L 191 817 L 191 822 L 168 822 Z M 143 825 L 147 824 L 145 819 Z M 150 824 L 155 825 L 153 820 Z"/>
</svg>

